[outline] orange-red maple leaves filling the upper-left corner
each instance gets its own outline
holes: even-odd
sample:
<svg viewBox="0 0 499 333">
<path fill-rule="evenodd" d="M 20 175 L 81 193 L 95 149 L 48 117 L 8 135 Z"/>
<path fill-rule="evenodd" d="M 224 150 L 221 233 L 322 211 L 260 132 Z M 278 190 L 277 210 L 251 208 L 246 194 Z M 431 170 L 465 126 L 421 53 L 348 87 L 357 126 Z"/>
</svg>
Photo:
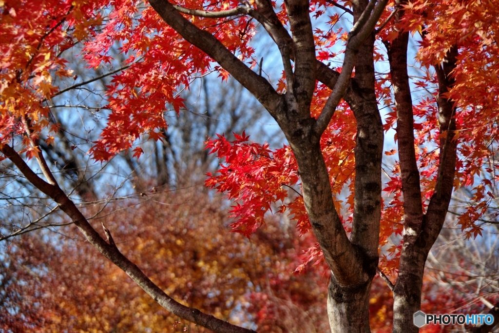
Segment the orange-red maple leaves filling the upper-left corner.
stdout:
<svg viewBox="0 0 499 333">
<path fill-rule="evenodd" d="M 0 1 L 0 144 L 28 126 L 32 135 L 22 142 L 29 157 L 35 149 L 30 142 L 43 128 L 56 131 L 43 102 L 59 90 L 54 80 L 72 73 L 60 55 L 102 22 L 102 5 L 101 0 Z M 25 117 L 29 125 L 22 123 Z"/>
</svg>

